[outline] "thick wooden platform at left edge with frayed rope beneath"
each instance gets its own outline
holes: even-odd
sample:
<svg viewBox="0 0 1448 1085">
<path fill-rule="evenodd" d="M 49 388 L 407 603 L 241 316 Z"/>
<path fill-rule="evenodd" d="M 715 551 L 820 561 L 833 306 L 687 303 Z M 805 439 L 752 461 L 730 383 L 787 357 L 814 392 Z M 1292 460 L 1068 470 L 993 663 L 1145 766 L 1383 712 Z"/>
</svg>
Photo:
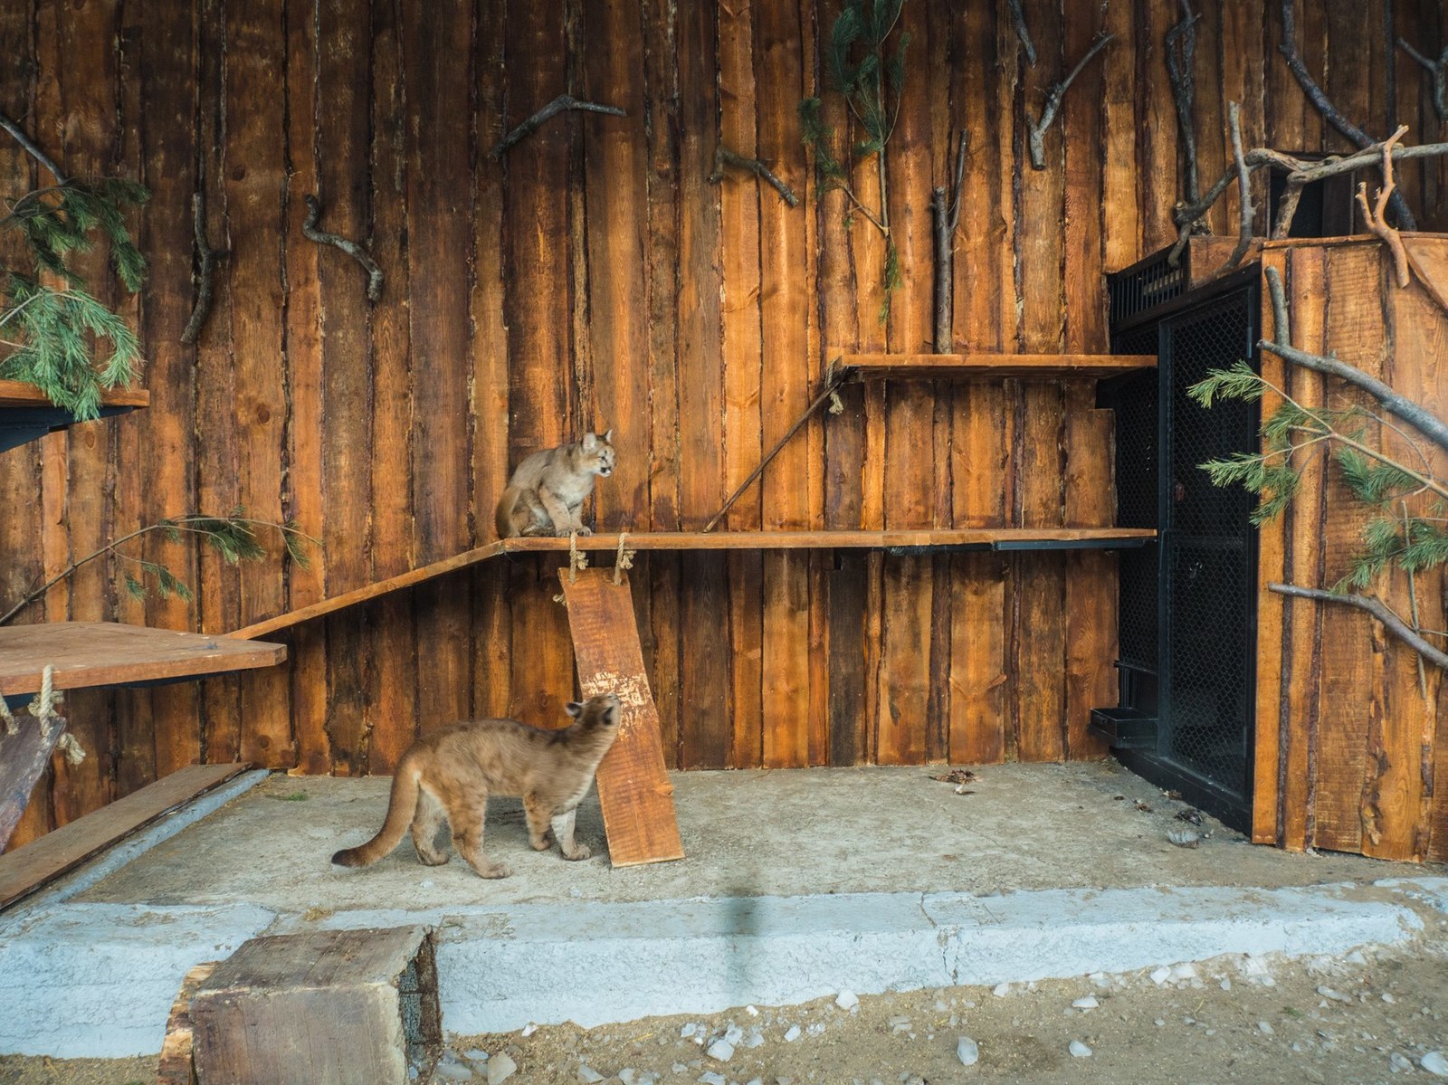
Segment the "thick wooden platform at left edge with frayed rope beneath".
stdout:
<svg viewBox="0 0 1448 1085">
<path fill-rule="evenodd" d="M 116 621 L 49 621 L 0 627 L 0 694 L 33 694 L 46 666 L 55 688 L 204 678 L 274 666 L 285 645 L 227 636 L 123 626 Z"/>
</svg>

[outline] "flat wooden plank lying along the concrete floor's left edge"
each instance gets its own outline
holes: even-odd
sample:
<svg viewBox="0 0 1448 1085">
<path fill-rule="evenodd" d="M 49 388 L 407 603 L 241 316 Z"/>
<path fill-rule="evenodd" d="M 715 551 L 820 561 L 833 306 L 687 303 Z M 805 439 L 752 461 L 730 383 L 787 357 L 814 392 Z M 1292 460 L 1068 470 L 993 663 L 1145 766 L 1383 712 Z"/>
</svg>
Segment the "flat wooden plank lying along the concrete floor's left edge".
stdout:
<svg viewBox="0 0 1448 1085">
<path fill-rule="evenodd" d="M 0 908 L 72 871 L 197 795 L 243 772 L 246 765 L 187 765 L 140 791 L 0 855 Z"/>
</svg>

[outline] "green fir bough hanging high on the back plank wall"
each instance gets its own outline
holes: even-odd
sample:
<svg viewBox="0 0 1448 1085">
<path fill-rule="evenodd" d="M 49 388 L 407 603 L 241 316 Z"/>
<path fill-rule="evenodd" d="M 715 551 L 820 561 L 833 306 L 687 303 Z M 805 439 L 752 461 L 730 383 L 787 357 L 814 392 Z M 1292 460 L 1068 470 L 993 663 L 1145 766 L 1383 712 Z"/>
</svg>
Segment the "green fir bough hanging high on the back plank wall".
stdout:
<svg viewBox="0 0 1448 1085">
<path fill-rule="evenodd" d="M 885 236 L 885 264 L 880 268 L 880 285 L 885 290 L 882 324 L 891 314 L 891 294 L 902 281 L 899 255 L 891 236 L 885 146 L 899 120 L 905 87 L 909 35 L 898 29 L 904 6 L 905 0 L 846 0 L 825 41 L 828 87 L 850 107 L 862 139 L 854 141 L 847 151 L 838 151 L 834 129 L 824 123 L 821 100 L 814 97 L 799 103 L 801 133 L 805 146 L 814 152 L 820 191 L 843 191 L 851 204 L 847 225 L 859 211 Z M 880 187 L 880 201 L 875 210 L 866 207 L 850 185 L 850 165 L 872 156 Z"/>
</svg>

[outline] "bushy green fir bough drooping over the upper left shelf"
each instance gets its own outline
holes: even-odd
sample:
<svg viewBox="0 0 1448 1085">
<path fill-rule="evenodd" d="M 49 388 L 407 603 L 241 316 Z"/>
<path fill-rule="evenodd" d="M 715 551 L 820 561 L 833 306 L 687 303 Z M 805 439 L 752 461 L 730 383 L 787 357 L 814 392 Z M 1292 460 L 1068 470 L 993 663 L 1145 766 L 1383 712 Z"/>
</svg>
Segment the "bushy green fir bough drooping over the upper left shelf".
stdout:
<svg viewBox="0 0 1448 1085">
<path fill-rule="evenodd" d="M 81 420 L 100 416 L 103 391 L 135 380 L 135 333 L 87 290 L 71 258 L 103 238 L 122 287 L 140 290 L 146 261 L 126 213 L 148 198 L 135 181 L 71 178 L 26 193 L 0 217 L 0 229 L 20 235 L 28 261 L 0 265 L 0 378 L 35 385 Z"/>
</svg>

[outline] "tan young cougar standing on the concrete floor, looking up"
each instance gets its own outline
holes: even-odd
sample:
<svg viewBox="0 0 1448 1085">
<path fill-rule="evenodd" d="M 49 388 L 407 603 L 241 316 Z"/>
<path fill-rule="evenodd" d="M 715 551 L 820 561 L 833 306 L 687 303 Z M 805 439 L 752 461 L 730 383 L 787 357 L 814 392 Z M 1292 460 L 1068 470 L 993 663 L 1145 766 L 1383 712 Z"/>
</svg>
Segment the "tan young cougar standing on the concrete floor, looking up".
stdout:
<svg viewBox="0 0 1448 1085">
<path fill-rule="evenodd" d="M 534 850 L 549 849 L 550 823 L 559 818 L 563 858 L 586 859 L 588 847 L 573 842 L 573 818 L 598 762 L 618 734 L 618 698 L 591 697 L 586 704 L 569 704 L 568 714 L 573 723 L 560 730 L 517 720 L 476 720 L 423 736 L 397 763 L 378 834 L 361 847 L 337 852 L 332 862 L 369 866 L 390 855 L 411 824 L 418 860 L 437 866 L 447 862 L 446 852 L 433 843 L 446 818 L 458 853 L 473 871 L 484 878 L 507 878 L 508 868 L 488 862 L 482 852 L 489 794 L 523 800 Z"/>
</svg>

